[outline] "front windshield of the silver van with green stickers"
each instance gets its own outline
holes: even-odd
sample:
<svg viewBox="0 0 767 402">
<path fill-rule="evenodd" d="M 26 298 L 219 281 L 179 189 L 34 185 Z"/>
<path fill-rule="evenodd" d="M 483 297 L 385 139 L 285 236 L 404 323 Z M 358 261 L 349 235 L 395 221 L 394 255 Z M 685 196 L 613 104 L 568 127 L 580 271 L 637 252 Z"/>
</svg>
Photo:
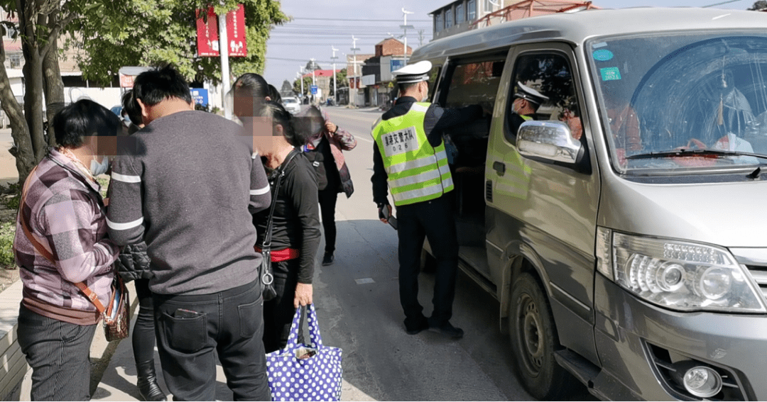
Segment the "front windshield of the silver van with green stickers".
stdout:
<svg viewBox="0 0 767 402">
<path fill-rule="evenodd" d="M 617 171 L 767 165 L 767 36 L 666 32 L 597 38 L 585 48 Z"/>
</svg>

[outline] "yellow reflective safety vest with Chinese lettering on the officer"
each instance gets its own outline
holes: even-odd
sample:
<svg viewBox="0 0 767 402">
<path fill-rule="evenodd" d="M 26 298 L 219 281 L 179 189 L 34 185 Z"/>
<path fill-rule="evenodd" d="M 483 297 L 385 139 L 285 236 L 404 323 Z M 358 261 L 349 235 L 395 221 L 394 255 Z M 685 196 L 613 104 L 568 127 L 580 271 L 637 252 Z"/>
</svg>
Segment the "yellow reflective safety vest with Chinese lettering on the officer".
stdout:
<svg viewBox="0 0 767 402">
<path fill-rule="evenodd" d="M 423 130 L 430 103 L 413 103 L 403 116 L 380 120 L 373 126 L 397 206 L 430 201 L 453 190 L 444 142 L 433 148 Z"/>
</svg>

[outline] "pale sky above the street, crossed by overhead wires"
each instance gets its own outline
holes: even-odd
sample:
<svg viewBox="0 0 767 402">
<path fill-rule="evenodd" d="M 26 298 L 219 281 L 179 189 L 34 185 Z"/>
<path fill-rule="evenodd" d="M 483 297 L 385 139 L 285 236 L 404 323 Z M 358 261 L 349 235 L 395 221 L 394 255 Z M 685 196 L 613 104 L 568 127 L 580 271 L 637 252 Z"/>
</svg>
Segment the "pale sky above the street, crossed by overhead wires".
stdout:
<svg viewBox="0 0 767 402">
<path fill-rule="evenodd" d="M 374 45 L 388 38 L 390 34 L 400 36 L 403 30 L 402 8 L 413 11 L 408 15 L 407 44 L 416 48 L 420 41 L 427 43 L 432 38 L 432 22 L 428 15 L 451 0 L 420 0 L 411 2 L 370 0 L 282 0 L 282 11 L 295 18 L 272 30 L 267 42 L 266 70 L 264 77 L 269 83 L 280 88 L 283 80 L 296 79 L 299 67 L 314 58 L 320 67 L 332 68 L 331 46 L 335 53 L 337 68 L 345 67 L 345 54 L 351 54 L 352 35 L 357 40 L 358 53 L 372 54 Z M 726 3 L 726 4 L 717 4 Z M 745 10 L 754 0 L 594 0 L 601 8 L 627 7 L 703 7 Z M 422 31 L 421 36 L 418 31 Z"/>
</svg>

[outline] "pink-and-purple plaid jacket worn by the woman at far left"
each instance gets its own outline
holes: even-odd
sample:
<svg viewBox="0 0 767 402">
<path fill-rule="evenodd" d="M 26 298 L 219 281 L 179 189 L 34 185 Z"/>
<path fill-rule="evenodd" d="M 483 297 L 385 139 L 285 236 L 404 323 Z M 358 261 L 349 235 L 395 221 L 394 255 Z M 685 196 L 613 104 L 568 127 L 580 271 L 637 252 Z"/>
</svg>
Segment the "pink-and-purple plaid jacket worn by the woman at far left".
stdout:
<svg viewBox="0 0 767 402">
<path fill-rule="evenodd" d="M 74 283 L 84 282 L 106 305 L 113 263 L 120 252 L 105 238 L 107 217 L 101 207 L 100 185 L 86 178 L 67 156 L 51 150 L 29 175 L 25 188 L 13 240 L 23 298 L 38 305 L 95 312 L 96 307 Z M 38 253 L 25 236 L 19 221 L 22 216 L 55 263 Z"/>
</svg>

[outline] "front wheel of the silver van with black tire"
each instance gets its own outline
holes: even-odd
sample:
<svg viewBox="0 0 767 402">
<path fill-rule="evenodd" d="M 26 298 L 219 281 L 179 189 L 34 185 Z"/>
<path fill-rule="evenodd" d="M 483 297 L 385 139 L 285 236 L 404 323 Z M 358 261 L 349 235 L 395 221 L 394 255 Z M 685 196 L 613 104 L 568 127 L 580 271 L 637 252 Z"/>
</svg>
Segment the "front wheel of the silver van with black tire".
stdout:
<svg viewBox="0 0 767 402">
<path fill-rule="evenodd" d="M 540 283 L 522 273 L 509 299 L 509 338 L 522 386 L 539 400 L 562 400 L 577 380 L 554 357 L 561 348 L 554 316 Z"/>
</svg>

